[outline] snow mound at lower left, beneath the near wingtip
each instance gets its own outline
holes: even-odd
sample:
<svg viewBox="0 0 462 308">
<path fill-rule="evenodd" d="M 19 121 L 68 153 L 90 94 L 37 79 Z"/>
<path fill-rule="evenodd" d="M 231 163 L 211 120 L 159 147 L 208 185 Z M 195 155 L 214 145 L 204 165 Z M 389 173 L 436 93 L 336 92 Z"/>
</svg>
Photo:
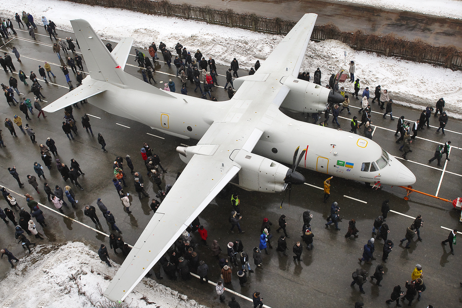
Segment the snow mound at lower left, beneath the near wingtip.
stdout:
<svg viewBox="0 0 462 308">
<path fill-rule="evenodd" d="M 9 308 L 114 307 L 102 296 L 120 267 L 111 264 L 108 267 L 81 242 L 37 245 L 0 282 L 0 302 Z M 206 308 L 146 278 L 124 303 L 120 307 Z"/>
</svg>

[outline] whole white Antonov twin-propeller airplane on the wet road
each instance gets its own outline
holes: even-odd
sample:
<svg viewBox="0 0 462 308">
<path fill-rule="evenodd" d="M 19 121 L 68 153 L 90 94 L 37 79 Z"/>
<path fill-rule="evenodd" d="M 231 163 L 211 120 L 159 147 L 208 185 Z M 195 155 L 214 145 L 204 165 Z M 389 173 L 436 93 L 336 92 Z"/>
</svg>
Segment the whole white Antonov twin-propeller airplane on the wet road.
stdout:
<svg viewBox="0 0 462 308">
<path fill-rule="evenodd" d="M 140 81 L 123 71 L 132 38 L 122 39 L 109 53 L 88 22 L 71 21 L 89 76 L 43 110 L 55 112 L 88 98 L 111 114 L 199 140 L 195 146 L 177 148 L 187 166 L 105 290 L 107 298 L 124 300 L 234 178 L 239 187 L 270 193 L 304 183 L 297 166 L 385 185 L 415 182 L 413 173 L 375 141 L 296 121 L 280 111 L 313 112 L 343 101 L 338 93 L 296 78 L 316 18 L 305 14 L 254 75 L 234 81 L 238 90 L 225 102 L 167 92 Z M 306 151 L 297 160 L 299 145 L 306 145 Z M 278 161 L 292 163 L 292 168 Z"/>
</svg>

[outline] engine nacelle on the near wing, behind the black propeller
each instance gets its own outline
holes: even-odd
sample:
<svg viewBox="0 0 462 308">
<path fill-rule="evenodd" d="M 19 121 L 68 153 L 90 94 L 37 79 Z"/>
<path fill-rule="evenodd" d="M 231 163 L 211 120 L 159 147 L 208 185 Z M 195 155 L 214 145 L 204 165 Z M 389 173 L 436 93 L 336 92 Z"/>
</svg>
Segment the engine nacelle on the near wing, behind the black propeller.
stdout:
<svg viewBox="0 0 462 308">
<path fill-rule="evenodd" d="M 234 162 L 241 166 L 239 187 L 250 191 L 276 193 L 284 189 L 284 178 L 290 168 L 274 160 L 250 153 L 238 151 Z M 233 154 L 231 154 L 232 157 Z"/>
</svg>

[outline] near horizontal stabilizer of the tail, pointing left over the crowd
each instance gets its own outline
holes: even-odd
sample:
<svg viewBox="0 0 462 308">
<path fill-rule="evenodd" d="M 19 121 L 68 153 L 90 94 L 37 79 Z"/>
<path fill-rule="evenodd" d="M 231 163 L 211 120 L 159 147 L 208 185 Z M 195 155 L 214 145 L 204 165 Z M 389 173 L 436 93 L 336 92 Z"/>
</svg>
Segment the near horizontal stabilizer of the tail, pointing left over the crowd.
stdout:
<svg viewBox="0 0 462 308">
<path fill-rule="evenodd" d="M 90 79 L 90 77 L 88 77 Z M 91 79 L 90 79 L 91 80 Z M 85 79 L 83 80 L 84 84 L 75 88 L 74 90 L 68 92 L 62 97 L 55 100 L 53 103 L 48 104 L 43 108 L 43 111 L 46 112 L 55 112 L 64 107 L 79 103 L 88 97 L 97 95 L 98 93 L 103 93 L 107 90 L 107 85 L 104 82 L 91 80 L 93 84 L 85 85 Z"/>
</svg>

